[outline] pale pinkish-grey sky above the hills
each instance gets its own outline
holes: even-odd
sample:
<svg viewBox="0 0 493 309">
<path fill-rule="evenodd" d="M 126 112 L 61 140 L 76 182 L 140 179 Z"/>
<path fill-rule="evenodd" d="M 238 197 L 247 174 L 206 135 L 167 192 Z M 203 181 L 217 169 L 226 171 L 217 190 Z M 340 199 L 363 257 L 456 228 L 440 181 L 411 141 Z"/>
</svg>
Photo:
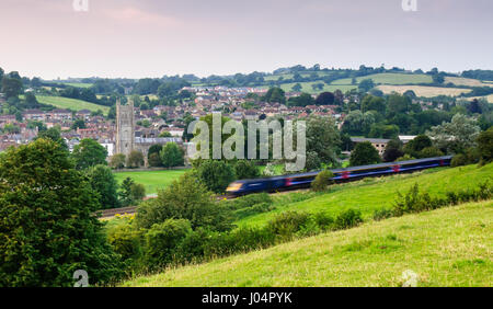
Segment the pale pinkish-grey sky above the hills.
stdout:
<svg viewBox="0 0 493 309">
<path fill-rule="evenodd" d="M 493 1 L 405 1 L 0 0 L 0 67 L 43 79 L 493 69 Z"/>
</svg>

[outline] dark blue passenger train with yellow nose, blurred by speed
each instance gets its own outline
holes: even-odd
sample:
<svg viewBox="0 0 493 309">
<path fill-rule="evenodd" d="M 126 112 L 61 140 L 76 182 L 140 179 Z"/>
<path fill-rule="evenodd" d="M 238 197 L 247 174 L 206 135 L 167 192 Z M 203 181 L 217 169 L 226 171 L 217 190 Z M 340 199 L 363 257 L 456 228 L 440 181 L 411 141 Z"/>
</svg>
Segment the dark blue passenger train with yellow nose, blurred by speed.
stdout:
<svg viewBox="0 0 493 309">
<path fill-rule="evenodd" d="M 452 156 L 408 160 L 400 162 L 389 162 L 351 167 L 345 169 L 330 170 L 333 173 L 332 180 L 335 183 L 360 180 L 370 176 L 385 176 L 399 173 L 409 173 L 425 169 L 448 167 Z M 309 187 L 311 182 L 320 171 L 298 174 L 279 175 L 263 179 L 238 180 L 229 184 L 226 193 L 229 196 L 238 197 L 260 192 L 279 192 Z"/>
</svg>

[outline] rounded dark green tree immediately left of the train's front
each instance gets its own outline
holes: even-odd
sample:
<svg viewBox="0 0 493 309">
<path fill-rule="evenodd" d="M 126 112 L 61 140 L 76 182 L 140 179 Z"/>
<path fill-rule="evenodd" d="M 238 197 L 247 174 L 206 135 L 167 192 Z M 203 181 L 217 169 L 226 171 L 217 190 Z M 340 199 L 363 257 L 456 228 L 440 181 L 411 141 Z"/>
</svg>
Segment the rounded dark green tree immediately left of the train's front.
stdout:
<svg viewBox="0 0 493 309">
<path fill-rule="evenodd" d="M 223 193 L 236 178 L 234 169 L 221 160 L 204 160 L 196 172 L 205 186 L 214 193 Z"/>
</svg>

